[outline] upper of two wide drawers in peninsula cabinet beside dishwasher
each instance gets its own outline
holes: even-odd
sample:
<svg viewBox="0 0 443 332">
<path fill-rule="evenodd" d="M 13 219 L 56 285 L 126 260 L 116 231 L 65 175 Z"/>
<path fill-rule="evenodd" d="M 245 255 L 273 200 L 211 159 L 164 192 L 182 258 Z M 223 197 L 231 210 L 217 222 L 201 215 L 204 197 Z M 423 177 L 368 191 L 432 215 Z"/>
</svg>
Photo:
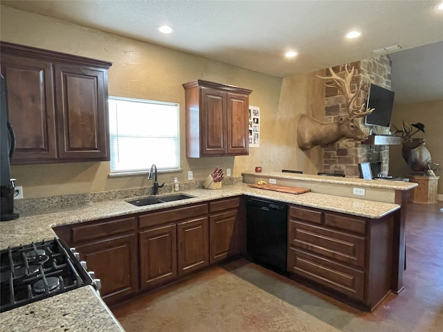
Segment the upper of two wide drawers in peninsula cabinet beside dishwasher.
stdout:
<svg viewBox="0 0 443 332">
<path fill-rule="evenodd" d="M 355 266 L 365 266 L 365 239 L 352 234 L 289 221 L 289 245 Z"/>
</svg>

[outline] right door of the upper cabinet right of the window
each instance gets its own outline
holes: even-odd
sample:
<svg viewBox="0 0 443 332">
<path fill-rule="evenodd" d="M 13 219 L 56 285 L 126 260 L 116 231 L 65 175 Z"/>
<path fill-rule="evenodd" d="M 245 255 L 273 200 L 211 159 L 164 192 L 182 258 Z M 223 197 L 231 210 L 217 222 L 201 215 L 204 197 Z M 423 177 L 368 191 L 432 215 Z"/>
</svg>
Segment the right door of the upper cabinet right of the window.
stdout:
<svg viewBox="0 0 443 332">
<path fill-rule="evenodd" d="M 248 114 L 249 98 L 247 95 L 227 94 L 226 107 L 226 153 L 247 155 L 249 153 Z"/>
</svg>

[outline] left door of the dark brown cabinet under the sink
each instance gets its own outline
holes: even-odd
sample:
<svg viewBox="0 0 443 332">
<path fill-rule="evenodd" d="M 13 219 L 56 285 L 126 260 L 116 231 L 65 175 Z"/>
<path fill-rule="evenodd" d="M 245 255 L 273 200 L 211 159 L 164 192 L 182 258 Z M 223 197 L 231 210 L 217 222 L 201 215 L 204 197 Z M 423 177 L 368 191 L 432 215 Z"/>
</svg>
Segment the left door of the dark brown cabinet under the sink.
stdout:
<svg viewBox="0 0 443 332">
<path fill-rule="evenodd" d="M 153 288 L 177 277 L 177 225 L 140 233 L 141 288 Z"/>
</svg>

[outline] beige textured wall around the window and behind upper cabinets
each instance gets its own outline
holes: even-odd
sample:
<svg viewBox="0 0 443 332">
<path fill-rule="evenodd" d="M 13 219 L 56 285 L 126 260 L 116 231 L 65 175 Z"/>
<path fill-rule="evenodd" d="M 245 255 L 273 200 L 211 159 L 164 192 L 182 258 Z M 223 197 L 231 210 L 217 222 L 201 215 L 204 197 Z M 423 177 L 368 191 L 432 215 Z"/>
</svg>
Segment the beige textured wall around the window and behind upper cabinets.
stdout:
<svg viewBox="0 0 443 332">
<path fill-rule="evenodd" d="M 161 174 L 160 181 L 172 183 L 178 177 L 187 182 L 188 170 L 204 180 L 216 166 L 230 168 L 233 176 L 262 166 L 266 171 L 300 169 L 316 174 L 320 152 L 303 153 L 296 143 L 296 124 L 301 113 L 323 111 L 322 82 L 314 73 L 280 79 L 235 66 L 188 55 L 84 28 L 64 21 L 1 6 L 0 39 L 5 42 L 46 48 L 63 53 L 112 62 L 109 95 L 163 100 L 180 104 L 181 168 L 183 172 Z M 250 104 L 260 107 L 260 148 L 249 156 L 186 158 L 184 145 L 184 92 L 181 84 L 195 79 L 232 84 L 253 90 Z M 141 153 L 149 153 L 149 147 Z M 24 198 L 100 192 L 152 185 L 146 176 L 109 178 L 109 163 L 20 165 L 11 167 L 11 176 L 24 187 Z"/>
</svg>

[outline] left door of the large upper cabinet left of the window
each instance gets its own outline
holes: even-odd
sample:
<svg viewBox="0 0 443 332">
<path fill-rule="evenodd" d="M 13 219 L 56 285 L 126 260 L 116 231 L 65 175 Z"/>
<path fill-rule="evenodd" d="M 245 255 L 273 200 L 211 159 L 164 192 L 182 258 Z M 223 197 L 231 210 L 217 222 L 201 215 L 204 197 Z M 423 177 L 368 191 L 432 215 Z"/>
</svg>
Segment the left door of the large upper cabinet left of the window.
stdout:
<svg viewBox="0 0 443 332">
<path fill-rule="evenodd" d="M 11 164 L 55 160 L 55 107 L 51 62 L 1 55 L 6 80 L 8 118 L 15 131 Z"/>
</svg>

